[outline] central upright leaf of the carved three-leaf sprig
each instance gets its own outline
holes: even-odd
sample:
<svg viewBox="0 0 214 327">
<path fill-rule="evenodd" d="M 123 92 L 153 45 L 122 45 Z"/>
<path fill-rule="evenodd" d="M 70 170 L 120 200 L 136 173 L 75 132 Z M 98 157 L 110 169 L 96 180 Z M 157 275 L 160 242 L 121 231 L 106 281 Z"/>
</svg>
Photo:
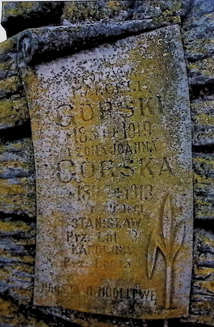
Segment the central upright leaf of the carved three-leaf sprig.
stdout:
<svg viewBox="0 0 214 327">
<path fill-rule="evenodd" d="M 162 228 L 163 238 L 167 252 L 170 251 L 170 238 L 172 230 L 172 207 L 169 194 L 167 195 L 163 207 Z"/>
</svg>

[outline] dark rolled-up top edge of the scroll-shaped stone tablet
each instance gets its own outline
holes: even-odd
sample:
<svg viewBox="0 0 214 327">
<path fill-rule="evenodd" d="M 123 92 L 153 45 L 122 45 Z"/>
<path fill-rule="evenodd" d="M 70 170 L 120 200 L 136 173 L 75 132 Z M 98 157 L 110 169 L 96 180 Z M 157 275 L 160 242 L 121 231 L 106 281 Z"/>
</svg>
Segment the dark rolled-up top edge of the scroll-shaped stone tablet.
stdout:
<svg viewBox="0 0 214 327">
<path fill-rule="evenodd" d="M 170 23 L 152 23 L 147 20 L 132 20 L 126 22 L 82 24 L 59 27 L 40 27 L 26 30 L 19 35 L 18 50 L 19 64 L 21 61 L 35 65 L 50 61 L 63 55 L 70 55 L 85 48 L 118 40 L 126 36 L 135 35 L 167 26 Z"/>
</svg>

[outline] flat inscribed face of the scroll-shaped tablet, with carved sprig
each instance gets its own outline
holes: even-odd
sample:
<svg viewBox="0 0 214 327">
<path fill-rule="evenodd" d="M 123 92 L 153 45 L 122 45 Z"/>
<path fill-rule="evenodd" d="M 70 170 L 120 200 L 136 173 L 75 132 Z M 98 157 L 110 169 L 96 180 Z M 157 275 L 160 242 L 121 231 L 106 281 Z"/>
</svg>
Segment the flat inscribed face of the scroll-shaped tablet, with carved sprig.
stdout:
<svg viewBox="0 0 214 327">
<path fill-rule="evenodd" d="M 39 64 L 25 85 L 37 178 L 34 303 L 186 314 L 191 125 L 178 26 Z"/>
</svg>

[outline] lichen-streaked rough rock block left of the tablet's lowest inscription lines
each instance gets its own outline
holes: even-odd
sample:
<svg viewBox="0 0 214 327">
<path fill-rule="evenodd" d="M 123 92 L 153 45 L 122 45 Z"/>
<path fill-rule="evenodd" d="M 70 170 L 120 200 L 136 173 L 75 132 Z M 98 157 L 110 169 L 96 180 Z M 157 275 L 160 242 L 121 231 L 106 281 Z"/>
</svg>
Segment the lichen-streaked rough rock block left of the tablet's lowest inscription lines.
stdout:
<svg viewBox="0 0 214 327">
<path fill-rule="evenodd" d="M 21 219 L 21 220 L 20 220 Z M 35 224 L 22 216 L 0 219 L 0 292 L 19 304 L 29 304 L 33 295 Z"/>
</svg>

